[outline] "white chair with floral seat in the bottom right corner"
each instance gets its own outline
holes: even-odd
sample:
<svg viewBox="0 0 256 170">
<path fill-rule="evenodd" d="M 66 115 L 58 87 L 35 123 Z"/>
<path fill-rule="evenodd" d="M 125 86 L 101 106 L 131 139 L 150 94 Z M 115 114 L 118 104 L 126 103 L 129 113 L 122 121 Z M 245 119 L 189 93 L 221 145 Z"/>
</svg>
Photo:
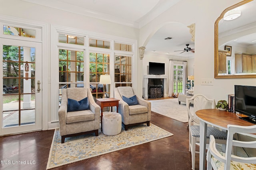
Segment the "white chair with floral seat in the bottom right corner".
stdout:
<svg viewBox="0 0 256 170">
<path fill-rule="evenodd" d="M 207 170 L 255 170 L 256 157 L 241 157 L 232 154 L 232 148 L 256 148 L 255 141 L 236 141 L 233 140 L 234 134 L 251 135 L 256 132 L 256 125 L 238 126 L 228 125 L 228 139 L 226 143 L 226 152 L 220 152 L 216 149 L 214 137 L 210 136 L 210 144 L 207 151 Z M 256 135 L 255 135 L 256 136 Z"/>
</svg>

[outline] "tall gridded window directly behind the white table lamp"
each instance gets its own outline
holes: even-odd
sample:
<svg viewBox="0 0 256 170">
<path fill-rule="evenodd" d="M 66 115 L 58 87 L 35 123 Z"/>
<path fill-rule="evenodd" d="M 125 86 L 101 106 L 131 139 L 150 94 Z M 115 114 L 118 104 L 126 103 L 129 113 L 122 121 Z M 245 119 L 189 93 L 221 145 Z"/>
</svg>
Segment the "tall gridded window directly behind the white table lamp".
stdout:
<svg viewBox="0 0 256 170">
<path fill-rule="evenodd" d="M 95 98 L 103 97 L 103 85 L 99 84 L 102 74 L 110 74 L 110 55 L 90 53 L 90 88 Z M 110 84 L 106 85 L 105 91 L 110 96 Z"/>
</svg>

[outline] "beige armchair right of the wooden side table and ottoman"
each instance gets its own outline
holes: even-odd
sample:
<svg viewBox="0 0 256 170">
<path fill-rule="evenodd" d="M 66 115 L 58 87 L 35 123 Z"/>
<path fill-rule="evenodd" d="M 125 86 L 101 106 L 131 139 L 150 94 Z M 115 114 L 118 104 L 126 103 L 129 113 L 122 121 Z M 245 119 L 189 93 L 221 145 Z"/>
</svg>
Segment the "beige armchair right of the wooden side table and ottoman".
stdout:
<svg viewBox="0 0 256 170">
<path fill-rule="evenodd" d="M 132 90 L 132 87 L 117 87 L 114 88 L 114 97 L 119 99 L 118 113 L 122 115 L 122 123 L 124 124 L 124 129 L 127 131 L 128 127 L 138 124 L 147 123 L 150 125 L 151 118 L 151 103 L 136 96 L 138 104 L 129 106 L 122 96 L 126 98 L 131 98 L 136 94 Z"/>
</svg>

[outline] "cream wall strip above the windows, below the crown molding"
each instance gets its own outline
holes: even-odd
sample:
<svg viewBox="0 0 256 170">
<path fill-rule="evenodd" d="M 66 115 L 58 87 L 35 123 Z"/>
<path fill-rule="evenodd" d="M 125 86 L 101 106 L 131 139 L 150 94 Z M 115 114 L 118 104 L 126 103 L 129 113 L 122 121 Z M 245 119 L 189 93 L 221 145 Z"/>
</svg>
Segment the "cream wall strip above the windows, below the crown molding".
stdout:
<svg viewBox="0 0 256 170">
<path fill-rule="evenodd" d="M 71 12 L 65 12 L 46 6 L 40 6 L 21 0 L 12 0 L 12 2 L 2 1 L 0 5 L 0 14 L 98 32 L 99 35 L 109 34 L 130 39 L 138 39 L 139 33 L 136 28 L 90 18 Z"/>
</svg>

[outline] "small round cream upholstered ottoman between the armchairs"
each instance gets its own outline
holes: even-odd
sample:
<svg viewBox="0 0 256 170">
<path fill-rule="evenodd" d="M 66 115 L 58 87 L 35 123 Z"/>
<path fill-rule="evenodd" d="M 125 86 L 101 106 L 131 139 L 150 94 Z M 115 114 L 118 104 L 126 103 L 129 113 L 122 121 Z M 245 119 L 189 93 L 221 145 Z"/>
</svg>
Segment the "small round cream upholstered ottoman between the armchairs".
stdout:
<svg viewBox="0 0 256 170">
<path fill-rule="evenodd" d="M 122 117 L 119 113 L 109 112 L 102 117 L 102 132 L 104 135 L 118 135 L 122 130 Z"/>
</svg>

